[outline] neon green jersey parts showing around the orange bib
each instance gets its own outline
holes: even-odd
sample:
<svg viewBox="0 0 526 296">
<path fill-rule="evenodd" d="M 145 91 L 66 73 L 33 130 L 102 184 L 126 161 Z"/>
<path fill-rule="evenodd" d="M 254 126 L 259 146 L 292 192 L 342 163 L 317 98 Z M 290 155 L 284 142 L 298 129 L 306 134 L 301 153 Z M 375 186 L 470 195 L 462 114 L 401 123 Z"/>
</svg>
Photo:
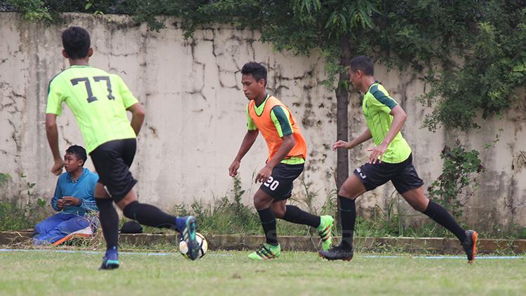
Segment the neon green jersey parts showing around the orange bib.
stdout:
<svg viewBox="0 0 526 296">
<path fill-rule="evenodd" d="M 254 105 L 254 111 L 256 114 L 262 115 L 265 104 L 267 103 L 267 99 L 269 99 L 270 95 L 267 94 L 265 97 L 265 100 L 263 103 L 259 106 Z M 274 122 L 274 126 L 276 127 L 276 131 L 278 132 L 278 135 L 283 138 L 283 136 L 288 136 L 289 134 L 293 134 L 294 131 L 292 130 L 292 123 L 290 122 L 290 113 L 288 112 L 287 108 L 283 108 L 283 106 L 274 106 L 272 110 L 270 111 L 270 118 L 272 122 Z M 247 105 L 247 129 L 248 130 L 256 130 L 256 123 L 252 118 L 250 118 L 250 114 L 248 112 L 248 105 Z M 301 156 L 293 156 L 289 157 L 287 159 L 281 160 L 282 164 L 302 164 L 305 163 L 305 160 Z"/>
</svg>

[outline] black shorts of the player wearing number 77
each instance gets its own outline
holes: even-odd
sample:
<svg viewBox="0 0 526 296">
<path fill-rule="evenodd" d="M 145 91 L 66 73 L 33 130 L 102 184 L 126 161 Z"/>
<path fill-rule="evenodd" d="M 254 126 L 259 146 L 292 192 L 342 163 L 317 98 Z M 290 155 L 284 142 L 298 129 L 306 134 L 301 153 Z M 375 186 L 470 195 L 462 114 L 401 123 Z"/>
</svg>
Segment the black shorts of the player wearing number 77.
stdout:
<svg viewBox="0 0 526 296">
<path fill-rule="evenodd" d="M 106 186 L 114 202 L 120 202 L 137 183 L 130 173 L 135 148 L 135 139 L 123 139 L 103 143 L 90 153 L 99 183 Z"/>
</svg>

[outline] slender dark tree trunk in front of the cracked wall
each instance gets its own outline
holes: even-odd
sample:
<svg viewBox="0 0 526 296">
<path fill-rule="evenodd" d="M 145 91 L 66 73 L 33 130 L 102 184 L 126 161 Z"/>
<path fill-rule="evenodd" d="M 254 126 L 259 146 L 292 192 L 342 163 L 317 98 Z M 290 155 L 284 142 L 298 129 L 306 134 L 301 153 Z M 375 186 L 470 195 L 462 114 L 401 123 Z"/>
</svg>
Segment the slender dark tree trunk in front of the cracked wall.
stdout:
<svg viewBox="0 0 526 296">
<path fill-rule="evenodd" d="M 348 69 L 349 63 L 351 62 L 351 45 L 349 43 L 349 36 L 342 36 L 340 41 L 342 55 L 339 59 L 340 66 L 344 66 Z M 337 140 L 349 141 L 349 124 L 348 124 L 348 106 L 349 106 L 349 71 L 342 71 L 339 73 L 338 87 L 336 89 L 337 99 L 337 115 L 336 115 L 336 128 L 337 128 Z M 342 184 L 349 177 L 349 150 L 338 149 L 337 150 L 337 164 L 336 164 L 336 187 L 337 190 L 342 187 Z M 336 220 L 340 221 L 339 213 L 339 199 L 337 199 L 337 214 Z M 339 223 L 339 225 L 341 225 Z"/>
</svg>

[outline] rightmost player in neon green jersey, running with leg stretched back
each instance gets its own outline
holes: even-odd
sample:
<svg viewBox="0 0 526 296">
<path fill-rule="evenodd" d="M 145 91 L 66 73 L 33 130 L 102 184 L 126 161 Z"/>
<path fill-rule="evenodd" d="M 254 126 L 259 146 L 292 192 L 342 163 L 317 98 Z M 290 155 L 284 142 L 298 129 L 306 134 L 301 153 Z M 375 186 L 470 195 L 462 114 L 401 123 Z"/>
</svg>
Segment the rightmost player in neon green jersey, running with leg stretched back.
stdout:
<svg viewBox="0 0 526 296">
<path fill-rule="evenodd" d="M 353 258 L 353 232 L 356 220 L 354 200 L 364 192 L 391 181 L 400 195 L 417 211 L 452 232 L 466 252 L 468 262 L 475 259 L 477 232 L 463 230 L 447 211 L 424 195 L 422 185 L 412 164 L 411 148 L 400 132 L 407 115 L 403 108 L 389 96 L 385 88 L 373 77 L 374 65 L 368 57 L 351 60 L 349 66 L 351 83 L 363 92 L 362 109 L 367 129 L 349 143 L 337 141 L 333 149 L 351 149 L 369 139 L 375 148 L 369 149 L 369 162 L 353 171 L 339 189 L 338 199 L 342 215 L 342 244 L 320 251 L 328 260 L 351 260 Z"/>
</svg>

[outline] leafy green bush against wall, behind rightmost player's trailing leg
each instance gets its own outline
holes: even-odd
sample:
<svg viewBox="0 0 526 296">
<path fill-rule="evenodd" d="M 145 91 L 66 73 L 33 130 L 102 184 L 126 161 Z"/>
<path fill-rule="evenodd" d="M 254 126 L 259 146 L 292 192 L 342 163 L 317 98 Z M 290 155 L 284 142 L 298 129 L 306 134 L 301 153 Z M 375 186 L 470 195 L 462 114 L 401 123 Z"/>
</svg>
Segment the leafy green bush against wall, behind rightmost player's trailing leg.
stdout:
<svg viewBox="0 0 526 296">
<path fill-rule="evenodd" d="M 442 174 L 428 188 L 429 197 L 442 204 L 453 216 L 462 216 L 462 207 L 466 199 L 459 195 L 466 186 L 476 187 L 476 176 L 484 170 L 478 151 L 467 151 L 457 141 L 457 146 L 445 146 L 440 153 L 444 160 Z"/>
</svg>

